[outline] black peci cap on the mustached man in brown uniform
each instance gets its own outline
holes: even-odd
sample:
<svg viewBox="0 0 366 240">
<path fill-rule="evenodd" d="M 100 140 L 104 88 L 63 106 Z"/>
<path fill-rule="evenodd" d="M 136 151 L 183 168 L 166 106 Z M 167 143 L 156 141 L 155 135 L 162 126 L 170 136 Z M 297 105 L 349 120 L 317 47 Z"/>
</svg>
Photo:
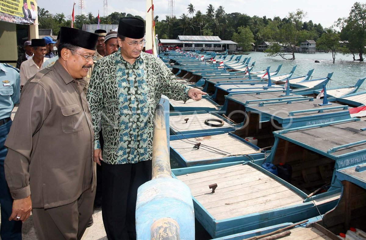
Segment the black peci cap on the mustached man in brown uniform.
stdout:
<svg viewBox="0 0 366 240">
<path fill-rule="evenodd" d="M 96 49 L 98 41 L 97 34 L 89 33 L 87 31 L 71 27 L 61 27 L 59 34 L 60 34 L 60 44 L 67 43 L 89 50 Z"/>
</svg>

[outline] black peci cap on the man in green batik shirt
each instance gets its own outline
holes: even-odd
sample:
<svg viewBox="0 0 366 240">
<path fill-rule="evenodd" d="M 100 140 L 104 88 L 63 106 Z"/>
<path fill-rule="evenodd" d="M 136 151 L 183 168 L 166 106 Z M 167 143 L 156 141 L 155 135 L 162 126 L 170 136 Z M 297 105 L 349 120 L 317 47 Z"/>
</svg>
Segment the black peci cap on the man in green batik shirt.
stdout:
<svg viewBox="0 0 366 240">
<path fill-rule="evenodd" d="M 138 18 L 119 19 L 118 34 L 124 37 L 140 39 L 145 36 L 145 23 Z"/>
</svg>

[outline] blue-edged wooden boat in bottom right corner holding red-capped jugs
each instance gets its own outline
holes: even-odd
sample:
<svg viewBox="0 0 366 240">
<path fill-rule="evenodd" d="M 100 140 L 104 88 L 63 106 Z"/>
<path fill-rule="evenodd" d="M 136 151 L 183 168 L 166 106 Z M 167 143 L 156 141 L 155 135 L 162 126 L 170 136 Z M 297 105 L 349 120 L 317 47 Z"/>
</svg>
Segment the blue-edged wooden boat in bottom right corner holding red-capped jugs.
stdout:
<svg viewBox="0 0 366 240">
<path fill-rule="evenodd" d="M 347 233 L 351 227 L 366 232 L 366 164 L 364 161 L 361 162 L 363 163 L 335 170 L 335 179 L 342 184 L 342 194 L 334 209 L 322 216 L 311 218 L 295 228 L 286 229 L 290 230 L 291 234 L 280 239 L 339 239 L 337 236 L 340 233 Z M 215 240 L 242 240 L 264 234 L 276 236 L 283 232 L 279 229 L 292 224 L 292 222 L 279 224 Z"/>
</svg>

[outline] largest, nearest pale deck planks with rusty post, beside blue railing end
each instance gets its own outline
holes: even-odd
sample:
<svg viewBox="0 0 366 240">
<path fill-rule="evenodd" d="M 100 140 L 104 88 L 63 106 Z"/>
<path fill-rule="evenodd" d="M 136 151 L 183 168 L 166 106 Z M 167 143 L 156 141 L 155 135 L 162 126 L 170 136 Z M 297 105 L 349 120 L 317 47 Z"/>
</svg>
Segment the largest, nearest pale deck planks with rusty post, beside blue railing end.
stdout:
<svg viewBox="0 0 366 240">
<path fill-rule="evenodd" d="M 194 177 L 194 174 L 178 176 L 216 220 L 286 207 L 303 201 L 294 191 L 252 166 L 236 165 L 228 168 L 226 176 L 221 175 L 225 168 L 198 173 L 202 177 L 194 181 L 187 178 Z M 230 174 L 231 172 L 235 174 Z M 214 183 L 218 187 L 214 194 L 210 194 L 208 185 Z"/>
</svg>

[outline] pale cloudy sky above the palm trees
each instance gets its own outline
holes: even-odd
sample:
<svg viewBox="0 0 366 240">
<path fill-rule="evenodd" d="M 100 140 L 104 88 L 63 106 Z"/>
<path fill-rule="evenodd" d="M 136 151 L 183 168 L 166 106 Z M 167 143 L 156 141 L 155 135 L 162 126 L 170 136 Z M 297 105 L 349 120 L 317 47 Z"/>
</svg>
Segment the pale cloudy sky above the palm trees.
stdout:
<svg viewBox="0 0 366 240">
<path fill-rule="evenodd" d="M 63 12 L 65 16 L 72 13 L 72 5 L 75 5 L 75 15 L 79 14 L 79 0 L 37 0 L 38 6 L 45 8 L 52 14 Z M 145 18 L 146 0 L 107 0 L 108 14 L 112 12 L 126 12 L 132 15 L 139 15 Z M 206 13 L 206 8 L 212 4 L 216 8 L 222 5 L 226 13 L 240 12 L 249 16 L 266 16 L 273 18 L 279 16 L 284 18 L 288 12 L 294 12 L 296 9 L 301 9 L 307 12 L 304 22 L 312 20 L 313 23 L 320 23 L 323 27 L 330 27 L 338 18 L 348 16 L 355 0 L 175 0 L 174 13 L 179 18 L 183 13 L 188 14 L 188 4 L 192 3 L 195 10 L 200 10 Z M 359 0 L 361 3 L 366 3 L 365 0 Z M 103 16 L 103 0 L 84 0 L 85 14 L 91 12 L 94 16 Z M 154 1 L 154 13 L 159 16 L 159 20 L 165 19 L 168 15 L 168 0 Z"/>
</svg>

